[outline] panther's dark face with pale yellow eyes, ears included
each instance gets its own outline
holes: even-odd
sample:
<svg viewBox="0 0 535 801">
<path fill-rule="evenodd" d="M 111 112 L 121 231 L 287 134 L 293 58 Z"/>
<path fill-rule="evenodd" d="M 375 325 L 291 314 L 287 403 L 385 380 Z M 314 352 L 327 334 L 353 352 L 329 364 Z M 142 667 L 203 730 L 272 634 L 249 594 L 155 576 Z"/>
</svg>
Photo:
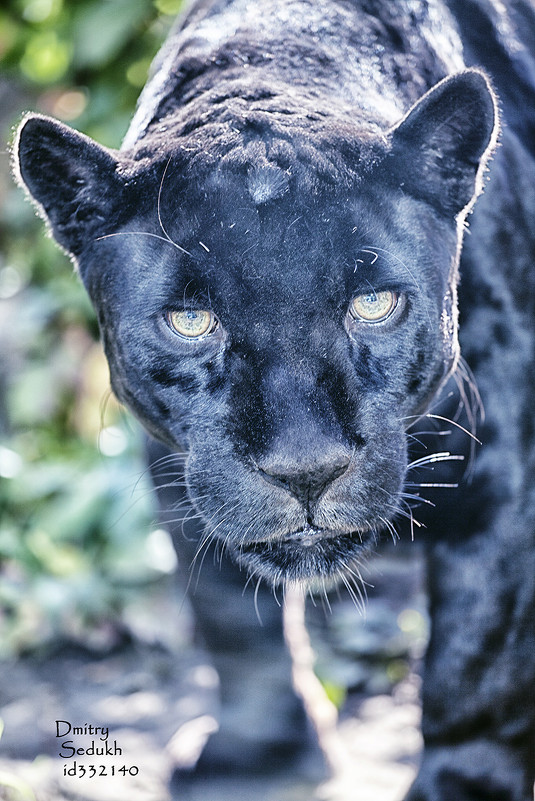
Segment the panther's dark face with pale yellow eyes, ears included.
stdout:
<svg viewBox="0 0 535 801">
<path fill-rule="evenodd" d="M 76 256 L 116 394 L 187 451 L 207 538 L 274 583 L 355 569 L 402 508 L 406 430 L 454 366 L 458 215 L 491 129 L 466 136 L 449 83 L 343 181 L 325 159 L 188 169 L 183 148 L 122 166 L 99 149 L 91 167 L 97 146 L 78 140 L 69 162 L 56 123 L 20 134 L 22 178 Z M 436 92 L 451 123 L 438 155 L 417 141 Z M 36 141 L 69 203 L 36 173 Z"/>
</svg>

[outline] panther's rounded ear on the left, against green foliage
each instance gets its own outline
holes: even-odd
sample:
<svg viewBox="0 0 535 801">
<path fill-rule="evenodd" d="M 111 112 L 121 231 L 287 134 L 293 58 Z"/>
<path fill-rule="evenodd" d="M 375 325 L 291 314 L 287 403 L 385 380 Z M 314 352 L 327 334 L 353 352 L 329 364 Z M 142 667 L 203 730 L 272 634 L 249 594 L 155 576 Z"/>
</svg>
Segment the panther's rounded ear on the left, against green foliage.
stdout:
<svg viewBox="0 0 535 801">
<path fill-rule="evenodd" d="M 105 232 L 120 208 L 117 154 L 57 120 L 28 115 L 17 132 L 13 161 L 54 238 L 74 256 Z"/>
</svg>

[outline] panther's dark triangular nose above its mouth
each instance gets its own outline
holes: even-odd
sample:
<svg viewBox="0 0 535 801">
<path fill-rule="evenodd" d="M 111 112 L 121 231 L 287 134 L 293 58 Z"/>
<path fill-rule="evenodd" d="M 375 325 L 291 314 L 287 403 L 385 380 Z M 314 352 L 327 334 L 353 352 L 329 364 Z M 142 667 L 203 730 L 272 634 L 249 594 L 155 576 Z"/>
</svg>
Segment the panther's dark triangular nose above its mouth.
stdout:
<svg viewBox="0 0 535 801">
<path fill-rule="evenodd" d="M 310 507 L 347 470 L 351 453 L 333 449 L 314 460 L 265 458 L 258 463 L 267 481 L 284 487 L 301 503 Z"/>
</svg>

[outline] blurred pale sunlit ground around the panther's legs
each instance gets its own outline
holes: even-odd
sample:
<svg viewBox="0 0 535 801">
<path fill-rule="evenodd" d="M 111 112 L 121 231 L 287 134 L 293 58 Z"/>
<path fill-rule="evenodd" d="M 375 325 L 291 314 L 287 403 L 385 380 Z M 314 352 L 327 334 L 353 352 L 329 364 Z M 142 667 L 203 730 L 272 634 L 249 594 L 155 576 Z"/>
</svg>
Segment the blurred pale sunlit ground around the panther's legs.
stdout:
<svg viewBox="0 0 535 801">
<path fill-rule="evenodd" d="M 425 637 L 422 567 L 419 558 L 394 553 L 376 560 L 375 568 L 365 618 L 343 602 L 327 636 L 323 626 L 321 632 L 312 627 L 317 672 L 328 686 L 349 688 L 330 743 L 337 762 L 333 778 L 314 781 L 317 766 L 304 765 L 292 774 L 170 789 L 176 760 L 213 722 L 216 678 L 205 654 L 191 644 L 176 587 L 162 582 L 143 614 L 132 610 L 131 636 L 111 652 L 56 644 L 3 664 L 0 798 L 354 801 L 358 788 L 359 801 L 400 801 L 420 749 L 419 679 L 412 668 Z M 95 721 L 106 721 L 101 725 L 109 727 L 105 742 L 113 753 L 71 757 L 72 745 L 87 748 L 95 739 L 98 748 L 104 741 L 64 734 L 67 722 L 84 727 Z M 92 764 L 105 775 L 90 775 Z"/>
</svg>

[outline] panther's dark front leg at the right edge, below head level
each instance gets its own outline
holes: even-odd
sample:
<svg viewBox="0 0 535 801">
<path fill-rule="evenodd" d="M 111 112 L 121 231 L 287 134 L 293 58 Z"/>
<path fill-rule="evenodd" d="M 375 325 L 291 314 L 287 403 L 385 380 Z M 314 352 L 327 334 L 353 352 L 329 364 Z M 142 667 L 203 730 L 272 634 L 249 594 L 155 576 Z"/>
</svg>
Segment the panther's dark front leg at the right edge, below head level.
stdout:
<svg viewBox="0 0 535 801">
<path fill-rule="evenodd" d="M 535 560 L 518 521 L 433 548 L 426 747 L 409 801 L 533 799 Z"/>
</svg>

